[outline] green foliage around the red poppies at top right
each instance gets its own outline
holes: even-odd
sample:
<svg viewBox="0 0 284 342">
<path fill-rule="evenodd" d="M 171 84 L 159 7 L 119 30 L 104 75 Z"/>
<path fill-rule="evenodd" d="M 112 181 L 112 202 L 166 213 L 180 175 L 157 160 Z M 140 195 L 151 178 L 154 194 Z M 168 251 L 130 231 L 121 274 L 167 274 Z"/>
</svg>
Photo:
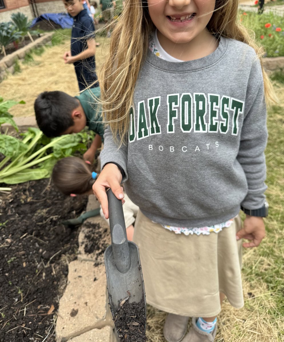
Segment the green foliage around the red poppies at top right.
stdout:
<svg viewBox="0 0 284 342">
<path fill-rule="evenodd" d="M 283 2 L 284 5 L 284 2 Z M 263 45 L 268 57 L 284 56 L 284 17 L 270 13 L 261 15 L 241 12 L 241 23 L 255 35 L 256 41 Z M 265 27 L 270 24 L 270 27 Z M 281 31 L 276 31 L 281 29 Z"/>
</svg>

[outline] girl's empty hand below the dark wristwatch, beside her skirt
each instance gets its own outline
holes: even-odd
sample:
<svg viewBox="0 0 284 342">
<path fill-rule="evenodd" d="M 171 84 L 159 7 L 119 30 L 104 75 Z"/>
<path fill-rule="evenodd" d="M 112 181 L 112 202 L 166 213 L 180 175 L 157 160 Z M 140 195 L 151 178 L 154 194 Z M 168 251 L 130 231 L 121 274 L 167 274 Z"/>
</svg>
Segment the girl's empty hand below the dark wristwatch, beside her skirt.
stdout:
<svg viewBox="0 0 284 342">
<path fill-rule="evenodd" d="M 262 217 L 250 216 L 244 220 L 243 228 L 237 232 L 237 240 L 247 239 L 251 242 L 244 242 L 243 247 L 257 247 L 265 236 L 265 227 Z"/>
</svg>

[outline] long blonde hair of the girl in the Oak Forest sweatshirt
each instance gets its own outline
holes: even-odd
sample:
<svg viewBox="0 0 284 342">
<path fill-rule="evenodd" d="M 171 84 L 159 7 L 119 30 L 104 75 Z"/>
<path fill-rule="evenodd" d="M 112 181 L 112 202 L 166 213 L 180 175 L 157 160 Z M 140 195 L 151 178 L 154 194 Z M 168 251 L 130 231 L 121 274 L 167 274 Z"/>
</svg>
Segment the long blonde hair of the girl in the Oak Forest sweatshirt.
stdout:
<svg viewBox="0 0 284 342">
<path fill-rule="evenodd" d="M 237 0 L 216 0 L 215 10 L 207 28 L 212 34 L 250 45 L 255 49 L 262 66 L 261 56 L 264 50 L 237 21 L 238 3 Z M 111 36 L 110 53 L 100 69 L 100 98 L 104 121 L 109 124 L 120 144 L 127 137 L 135 83 L 145 61 L 148 37 L 153 29 L 147 1 L 126 0 Z M 274 102 L 273 88 L 263 66 L 262 73 L 266 101 Z"/>
</svg>

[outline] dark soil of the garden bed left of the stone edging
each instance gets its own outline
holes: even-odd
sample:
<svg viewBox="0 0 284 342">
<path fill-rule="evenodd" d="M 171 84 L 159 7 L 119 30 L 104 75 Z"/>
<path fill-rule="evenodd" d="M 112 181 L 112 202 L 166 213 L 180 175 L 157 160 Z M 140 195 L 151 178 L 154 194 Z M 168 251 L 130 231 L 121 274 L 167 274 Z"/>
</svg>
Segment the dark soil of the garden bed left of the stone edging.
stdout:
<svg viewBox="0 0 284 342">
<path fill-rule="evenodd" d="M 60 222 L 79 216 L 86 202 L 61 195 L 48 179 L 0 193 L 1 342 L 56 341 L 59 298 L 79 234 Z"/>
</svg>

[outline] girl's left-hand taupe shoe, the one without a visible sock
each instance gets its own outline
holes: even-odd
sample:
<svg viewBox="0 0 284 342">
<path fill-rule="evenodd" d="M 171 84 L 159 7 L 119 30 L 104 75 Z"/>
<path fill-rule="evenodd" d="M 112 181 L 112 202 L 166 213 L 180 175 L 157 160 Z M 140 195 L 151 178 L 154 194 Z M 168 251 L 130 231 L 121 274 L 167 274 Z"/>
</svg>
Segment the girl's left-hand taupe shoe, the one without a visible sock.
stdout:
<svg viewBox="0 0 284 342">
<path fill-rule="evenodd" d="M 189 317 L 168 314 L 164 324 L 164 337 L 167 342 L 180 342 L 185 336 Z"/>
</svg>

